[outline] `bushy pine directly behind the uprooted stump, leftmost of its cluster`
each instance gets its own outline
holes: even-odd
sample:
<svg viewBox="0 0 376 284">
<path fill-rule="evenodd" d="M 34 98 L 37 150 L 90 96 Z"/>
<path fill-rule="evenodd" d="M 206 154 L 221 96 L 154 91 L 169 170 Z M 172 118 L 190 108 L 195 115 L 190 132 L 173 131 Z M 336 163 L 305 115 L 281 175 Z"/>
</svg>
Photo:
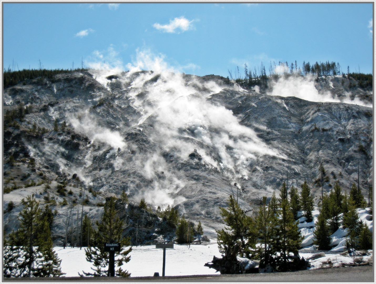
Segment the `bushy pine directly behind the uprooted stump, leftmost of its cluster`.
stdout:
<svg viewBox="0 0 376 284">
<path fill-rule="evenodd" d="M 250 257 L 250 248 L 255 245 L 255 231 L 253 220 L 240 208 L 235 198 L 230 195 L 227 199 L 227 208 L 219 207 L 220 214 L 226 224 L 225 230 L 217 232 L 218 248 L 224 252 L 223 245 L 240 248 L 239 255 Z"/>
</svg>

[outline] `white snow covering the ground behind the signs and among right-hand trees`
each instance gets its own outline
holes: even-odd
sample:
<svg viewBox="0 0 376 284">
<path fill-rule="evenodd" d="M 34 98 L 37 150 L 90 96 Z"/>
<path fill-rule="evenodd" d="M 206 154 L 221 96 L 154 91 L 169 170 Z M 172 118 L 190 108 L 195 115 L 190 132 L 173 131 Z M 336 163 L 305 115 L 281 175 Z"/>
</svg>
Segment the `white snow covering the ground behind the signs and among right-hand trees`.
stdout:
<svg viewBox="0 0 376 284">
<path fill-rule="evenodd" d="M 368 209 L 358 209 L 359 220 L 365 222 L 368 228 L 372 231 L 373 221 Z M 299 251 L 300 257 L 305 259 L 316 254 L 313 244 L 315 222 L 317 221 L 318 210 L 314 210 L 312 215 L 314 220 L 307 223 L 305 218 L 299 219 L 300 232 L 304 236 L 302 246 L 304 249 Z M 341 224 L 341 222 L 340 222 Z M 323 267 L 341 266 L 343 264 L 362 263 L 372 260 L 372 251 L 368 251 L 369 255 L 341 255 L 341 252 L 346 251 L 346 235 L 347 230 L 339 228 L 333 235 L 331 235 L 332 246 L 334 248 L 326 253 L 325 257 L 315 260 L 310 260 L 310 269 L 317 269 Z M 85 250 L 82 248 L 60 248 L 56 247 L 55 251 L 58 257 L 62 260 L 61 270 L 66 273 L 65 276 L 78 276 L 78 272 L 91 272 L 91 263 L 85 259 Z M 153 276 L 154 272 L 159 272 L 162 275 L 162 257 L 163 250 L 155 249 L 154 246 L 133 247 L 130 252 L 131 258 L 129 263 L 123 264 L 123 270 L 128 270 L 131 276 Z M 166 270 L 165 275 L 199 275 L 199 274 L 215 274 L 214 269 L 205 267 L 206 262 L 213 259 L 213 255 L 221 257 L 218 251 L 217 243 L 213 242 L 207 245 L 174 245 L 174 249 L 166 250 Z"/>
</svg>

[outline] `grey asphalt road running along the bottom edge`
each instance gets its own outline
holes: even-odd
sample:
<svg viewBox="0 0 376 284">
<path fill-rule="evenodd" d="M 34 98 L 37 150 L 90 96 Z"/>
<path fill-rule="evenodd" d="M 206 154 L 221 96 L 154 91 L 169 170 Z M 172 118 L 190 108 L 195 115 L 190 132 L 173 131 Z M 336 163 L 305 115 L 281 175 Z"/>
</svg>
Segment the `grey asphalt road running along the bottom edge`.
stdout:
<svg viewBox="0 0 376 284">
<path fill-rule="evenodd" d="M 5 278 L 3 282 L 45 282 L 47 278 Z M 374 282 L 373 265 L 333 267 L 295 272 L 240 275 L 188 275 L 165 277 L 52 277 L 48 282 Z"/>
</svg>

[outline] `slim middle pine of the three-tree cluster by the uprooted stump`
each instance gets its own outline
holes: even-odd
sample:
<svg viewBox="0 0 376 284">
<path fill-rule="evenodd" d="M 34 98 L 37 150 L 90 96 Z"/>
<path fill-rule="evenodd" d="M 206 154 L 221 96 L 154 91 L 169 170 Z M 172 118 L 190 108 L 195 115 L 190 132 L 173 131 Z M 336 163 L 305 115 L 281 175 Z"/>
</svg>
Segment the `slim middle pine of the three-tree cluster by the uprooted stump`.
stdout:
<svg viewBox="0 0 376 284">
<path fill-rule="evenodd" d="M 277 237 L 276 222 L 277 216 L 274 216 L 273 211 L 266 205 L 266 196 L 262 197 L 262 204 L 260 205 L 258 216 L 256 218 L 256 235 L 258 241 L 262 245 L 259 248 L 259 268 L 264 268 L 267 265 L 273 264 L 272 255 L 275 253 Z"/>
</svg>

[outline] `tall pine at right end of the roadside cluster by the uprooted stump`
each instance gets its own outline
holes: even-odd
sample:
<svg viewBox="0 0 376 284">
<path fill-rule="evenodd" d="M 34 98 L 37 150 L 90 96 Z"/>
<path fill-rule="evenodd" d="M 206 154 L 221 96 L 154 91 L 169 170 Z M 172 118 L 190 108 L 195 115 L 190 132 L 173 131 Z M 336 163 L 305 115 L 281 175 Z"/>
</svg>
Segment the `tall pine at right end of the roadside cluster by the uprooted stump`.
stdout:
<svg viewBox="0 0 376 284">
<path fill-rule="evenodd" d="M 298 250 L 302 243 L 302 236 L 300 235 L 299 228 L 295 222 L 294 215 L 289 207 L 288 200 L 284 199 L 281 202 L 281 209 L 279 211 L 279 218 L 276 222 L 277 241 L 276 251 L 280 254 L 277 269 L 279 271 L 286 271 L 291 269 L 288 261 L 289 253 L 299 255 Z"/>
</svg>

